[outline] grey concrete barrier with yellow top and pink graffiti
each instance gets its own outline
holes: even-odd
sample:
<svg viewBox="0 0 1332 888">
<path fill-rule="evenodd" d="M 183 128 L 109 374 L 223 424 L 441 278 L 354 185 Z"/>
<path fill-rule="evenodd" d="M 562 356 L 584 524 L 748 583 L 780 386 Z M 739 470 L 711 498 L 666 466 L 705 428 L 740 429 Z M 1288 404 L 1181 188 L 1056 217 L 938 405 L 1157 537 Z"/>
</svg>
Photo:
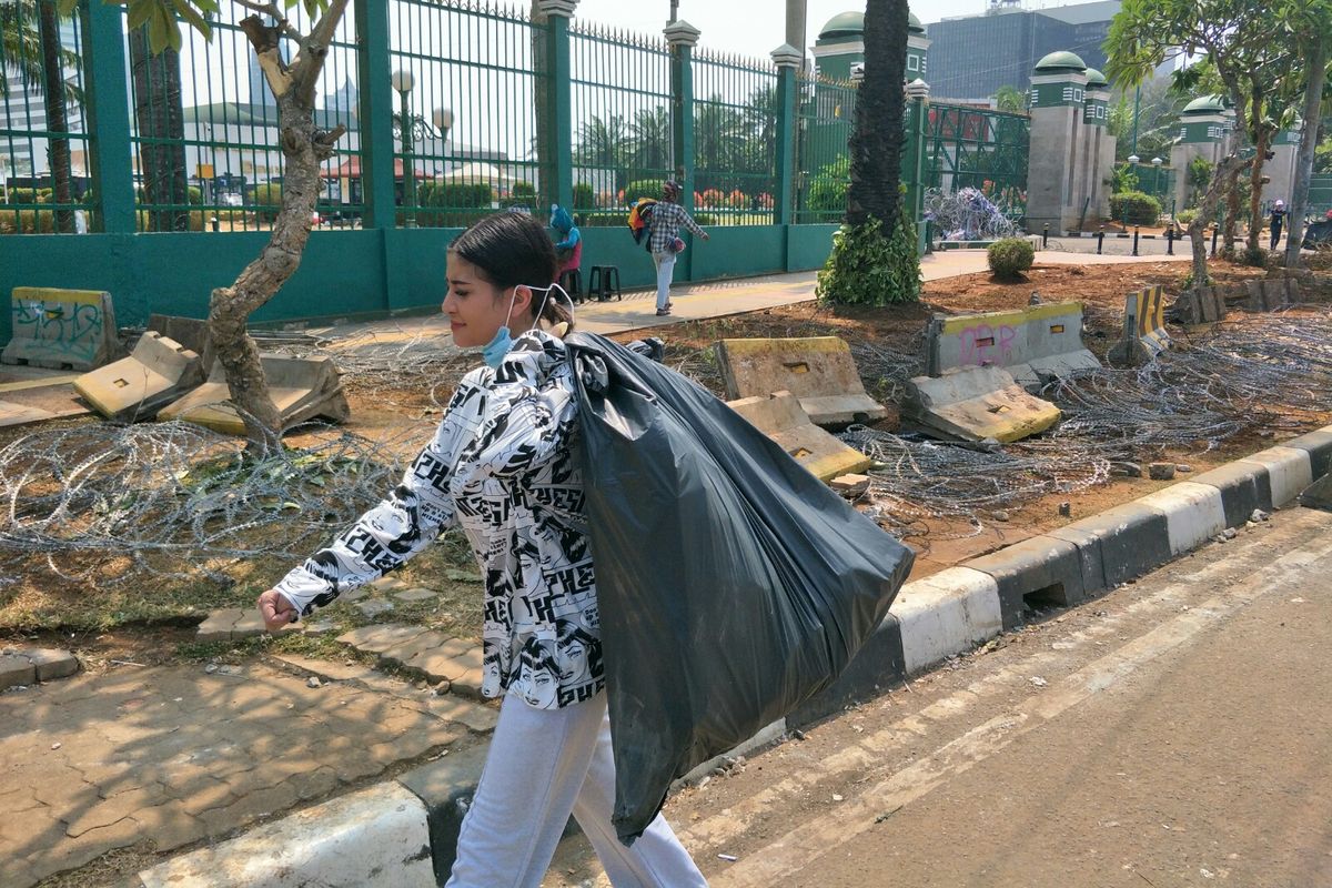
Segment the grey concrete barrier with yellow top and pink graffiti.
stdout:
<svg viewBox="0 0 1332 888">
<path fill-rule="evenodd" d="M 1018 385 L 1035 387 L 1042 377 L 1100 366 L 1083 346 L 1082 325 L 1082 302 L 935 316 L 926 330 L 926 373 L 938 377 L 956 367 L 995 366 Z"/>
</svg>

